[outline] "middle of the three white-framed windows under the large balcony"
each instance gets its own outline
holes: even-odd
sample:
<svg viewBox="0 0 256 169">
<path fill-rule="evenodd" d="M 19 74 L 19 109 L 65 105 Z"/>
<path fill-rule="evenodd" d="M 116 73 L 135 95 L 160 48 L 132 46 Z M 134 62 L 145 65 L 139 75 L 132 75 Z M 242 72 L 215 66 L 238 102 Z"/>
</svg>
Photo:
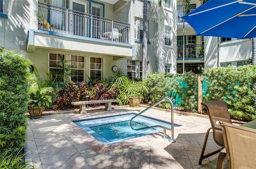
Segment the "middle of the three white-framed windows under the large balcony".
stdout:
<svg viewBox="0 0 256 169">
<path fill-rule="evenodd" d="M 71 55 L 72 77 L 73 82 L 84 81 L 84 56 Z"/>
</svg>

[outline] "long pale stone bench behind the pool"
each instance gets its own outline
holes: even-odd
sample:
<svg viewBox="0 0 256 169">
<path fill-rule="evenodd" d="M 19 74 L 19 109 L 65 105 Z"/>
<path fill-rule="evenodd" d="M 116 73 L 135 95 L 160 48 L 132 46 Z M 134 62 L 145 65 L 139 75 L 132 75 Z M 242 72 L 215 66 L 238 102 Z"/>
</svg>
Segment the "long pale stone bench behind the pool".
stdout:
<svg viewBox="0 0 256 169">
<path fill-rule="evenodd" d="M 112 111 L 111 103 L 117 102 L 116 99 L 108 99 L 108 100 L 89 100 L 89 101 L 80 101 L 80 102 L 71 102 L 74 106 L 80 105 L 79 113 L 86 114 L 86 104 L 99 104 L 99 103 L 105 103 L 105 109 L 106 111 Z"/>
</svg>

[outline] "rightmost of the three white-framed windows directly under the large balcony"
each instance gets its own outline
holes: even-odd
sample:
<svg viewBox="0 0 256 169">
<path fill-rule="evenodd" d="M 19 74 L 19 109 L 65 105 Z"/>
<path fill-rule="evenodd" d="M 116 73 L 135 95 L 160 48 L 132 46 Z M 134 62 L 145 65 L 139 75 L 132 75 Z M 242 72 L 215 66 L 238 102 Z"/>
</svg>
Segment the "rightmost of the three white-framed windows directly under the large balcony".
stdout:
<svg viewBox="0 0 256 169">
<path fill-rule="evenodd" d="M 101 79 L 102 77 L 102 58 L 90 57 L 90 78 Z"/>
</svg>

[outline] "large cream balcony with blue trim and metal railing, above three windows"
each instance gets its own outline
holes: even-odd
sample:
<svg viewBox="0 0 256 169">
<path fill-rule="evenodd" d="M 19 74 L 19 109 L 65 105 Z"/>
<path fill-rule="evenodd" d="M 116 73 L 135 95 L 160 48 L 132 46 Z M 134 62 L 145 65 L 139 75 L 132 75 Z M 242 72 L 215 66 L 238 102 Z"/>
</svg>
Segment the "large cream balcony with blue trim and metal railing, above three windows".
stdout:
<svg viewBox="0 0 256 169">
<path fill-rule="evenodd" d="M 38 2 L 38 30 L 28 30 L 28 52 L 39 47 L 133 57 L 129 29 L 124 22 Z"/>
</svg>

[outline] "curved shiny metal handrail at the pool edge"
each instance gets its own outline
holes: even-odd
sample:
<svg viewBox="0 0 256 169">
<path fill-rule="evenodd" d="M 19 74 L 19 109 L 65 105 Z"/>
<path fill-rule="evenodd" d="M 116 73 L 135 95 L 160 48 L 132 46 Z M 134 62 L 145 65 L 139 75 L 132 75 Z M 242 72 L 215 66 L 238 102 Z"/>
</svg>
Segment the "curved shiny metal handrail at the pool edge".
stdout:
<svg viewBox="0 0 256 169">
<path fill-rule="evenodd" d="M 170 102 L 170 104 L 171 104 L 171 118 L 172 118 L 172 119 L 171 119 L 171 126 L 172 126 L 172 128 L 167 128 L 167 127 L 162 126 L 162 125 L 156 125 L 156 126 L 150 126 L 150 127 L 144 127 L 144 128 L 135 129 L 135 128 L 132 126 L 132 120 L 133 120 L 134 118 L 136 118 L 137 116 L 140 116 L 140 114 L 146 112 L 147 110 L 151 109 L 152 107 L 156 106 L 157 104 L 161 103 L 161 102 L 164 101 L 164 100 L 168 100 L 168 101 Z M 153 104 L 153 105 L 151 105 L 150 107 L 146 108 L 145 110 L 143 110 L 142 112 L 140 112 L 140 113 L 137 114 L 136 116 L 132 117 L 131 120 L 130 120 L 130 126 L 131 126 L 131 128 L 132 128 L 133 130 L 136 130 L 136 131 L 138 131 L 138 130 L 144 130 L 144 129 L 149 129 L 149 128 L 156 128 L 156 127 L 163 128 L 163 129 L 164 129 L 164 136 L 163 136 L 162 138 L 165 138 L 165 139 L 168 138 L 168 137 L 166 137 L 166 129 L 171 130 L 172 137 L 169 138 L 169 141 L 175 143 L 176 141 L 174 140 L 173 108 L 174 108 L 174 106 L 173 106 L 172 100 L 171 100 L 170 98 L 168 98 L 168 97 L 162 98 L 160 101 L 156 102 L 155 104 Z M 167 136 L 168 136 L 168 135 L 167 135 Z"/>
</svg>

